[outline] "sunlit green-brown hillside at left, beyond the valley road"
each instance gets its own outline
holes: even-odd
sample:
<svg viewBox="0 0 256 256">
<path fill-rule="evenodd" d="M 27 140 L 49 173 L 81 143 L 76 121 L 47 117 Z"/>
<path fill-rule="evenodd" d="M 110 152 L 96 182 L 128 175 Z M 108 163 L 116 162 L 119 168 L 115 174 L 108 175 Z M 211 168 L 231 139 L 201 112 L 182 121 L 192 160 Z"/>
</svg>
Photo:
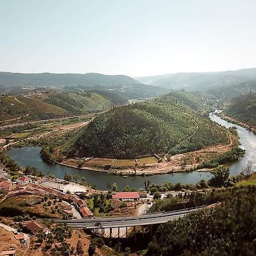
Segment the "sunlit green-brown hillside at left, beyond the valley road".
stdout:
<svg viewBox="0 0 256 256">
<path fill-rule="evenodd" d="M 0 96 L 0 121 L 23 121 L 101 112 L 127 102 L 114 92 L 96 90 L 81 93 L 42 93 Z"/>
</svg>

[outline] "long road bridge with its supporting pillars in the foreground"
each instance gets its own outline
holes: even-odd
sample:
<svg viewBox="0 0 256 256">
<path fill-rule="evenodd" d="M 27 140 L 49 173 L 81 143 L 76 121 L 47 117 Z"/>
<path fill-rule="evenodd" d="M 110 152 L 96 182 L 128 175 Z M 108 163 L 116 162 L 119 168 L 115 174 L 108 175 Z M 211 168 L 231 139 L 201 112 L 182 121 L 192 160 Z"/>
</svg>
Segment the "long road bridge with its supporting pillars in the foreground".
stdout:
<svg viewBox="0 0 256 256">
<path fill-rule="evenodd" d="M 82 218 L 81 220 L 54 220 L 58 223 L 65 223 L 68 226 L 72 226 L 75 229 L 90 229 L 94 234 L 104 237 L 109 229 L 109 234 L 105 237 L 109 238 L 122 238 L 128 237 L 128 228 L 134 229 L 134 239 L 136 240 L 136 227 L 142 227 L 142 234 L 144 236 L 144 227 L 149 226 L 152 233 L 152 225 L 163 224 L 168 221 L 175 220 L 180 217 L 184 217 L 188 213 L 195 212 L 203 207 L 193 207 L 181 210 L 173 210 L 171 212 L 158 212 L 158 213 L 146 213 L 141 216 L 125 216 L 125 217 L 94 217 L 94 218 Z M 117 234 L 113 236 L 113 229 L 117 229 Z M 120 236 L 120 230 L 125 229 L 125 232 Z"/>
</svg>

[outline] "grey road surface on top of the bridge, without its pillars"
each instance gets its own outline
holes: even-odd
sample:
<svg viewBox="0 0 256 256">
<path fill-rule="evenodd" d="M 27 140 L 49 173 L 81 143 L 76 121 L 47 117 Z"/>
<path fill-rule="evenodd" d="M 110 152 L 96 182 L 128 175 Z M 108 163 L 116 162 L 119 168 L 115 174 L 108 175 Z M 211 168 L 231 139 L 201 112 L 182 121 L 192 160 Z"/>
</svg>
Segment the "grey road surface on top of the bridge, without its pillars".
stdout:
<svg viewBox="0 0 256 256">
<path fill-rule="evenodd" d="M 144 226 L 152 224 L 162 224 L 188 213 L 195 212 L 202 207 L 193 207 L 172 212 L 148 213 L 141 216 L 127 217 L 106 217 L 106 218 L 83 218 L 82 220 L 54 220 L 55 222 L 66 223 L 76 229 L 96 229 L 96 228 L 124 228 L 130 226 Z"/>
</svg>

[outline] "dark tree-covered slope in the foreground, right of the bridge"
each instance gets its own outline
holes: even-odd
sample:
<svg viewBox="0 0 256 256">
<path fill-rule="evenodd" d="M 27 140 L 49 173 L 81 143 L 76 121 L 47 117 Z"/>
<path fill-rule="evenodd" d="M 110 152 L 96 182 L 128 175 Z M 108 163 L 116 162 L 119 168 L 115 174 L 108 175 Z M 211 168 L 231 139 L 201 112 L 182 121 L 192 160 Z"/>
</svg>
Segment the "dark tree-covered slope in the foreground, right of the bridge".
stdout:
<svg viewBox="0 0 256 256">
<path fill-rule="evenodd" d="M 208 193 L 222 203 L 160 225 L 146 255 L 255 255 L 255 191 L 251 185 Z"/>
</svg>

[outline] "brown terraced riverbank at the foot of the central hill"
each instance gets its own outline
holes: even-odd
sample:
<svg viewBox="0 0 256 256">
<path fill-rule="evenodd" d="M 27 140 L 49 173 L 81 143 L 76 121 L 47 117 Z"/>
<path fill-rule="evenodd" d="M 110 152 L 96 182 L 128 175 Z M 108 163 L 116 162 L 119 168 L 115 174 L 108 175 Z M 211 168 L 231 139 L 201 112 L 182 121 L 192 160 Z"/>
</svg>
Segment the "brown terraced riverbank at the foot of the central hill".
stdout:
<svg viewBox="0 0 256 256">
<path fill-rule="evenodd" d="M 229 133 L 229 139 L 229 144 L 218 144 L 217 146 L 210 146 L 193 152 L 177 154 L 171 156 L 169 159 L 163 158 L 161 162 L 158 162 L 156 158 L 154 160 L 153 157 L 137 159 L 137 164 L 135 164 L 134 159 L 115 160 L 110 158 L 94 158 L 87 160 L 86 158 L 71 158 L 64 159 L 63 162 L 57 164 L 78 170 L 105 172 L 106 174 L 121 176 L 151 176 L 174 174 L 177 172 L 191 172 L 197 170 L 198 166 L 203 162 L 231 151 L 233 145 L 237 144 L 238 137 Z M 109 170 L 104 170 L 106 166 L 109 166 Z M 197 171 L 210 170 L 212 169 L 204 168 L 203 170 Z"/>
</svg>

